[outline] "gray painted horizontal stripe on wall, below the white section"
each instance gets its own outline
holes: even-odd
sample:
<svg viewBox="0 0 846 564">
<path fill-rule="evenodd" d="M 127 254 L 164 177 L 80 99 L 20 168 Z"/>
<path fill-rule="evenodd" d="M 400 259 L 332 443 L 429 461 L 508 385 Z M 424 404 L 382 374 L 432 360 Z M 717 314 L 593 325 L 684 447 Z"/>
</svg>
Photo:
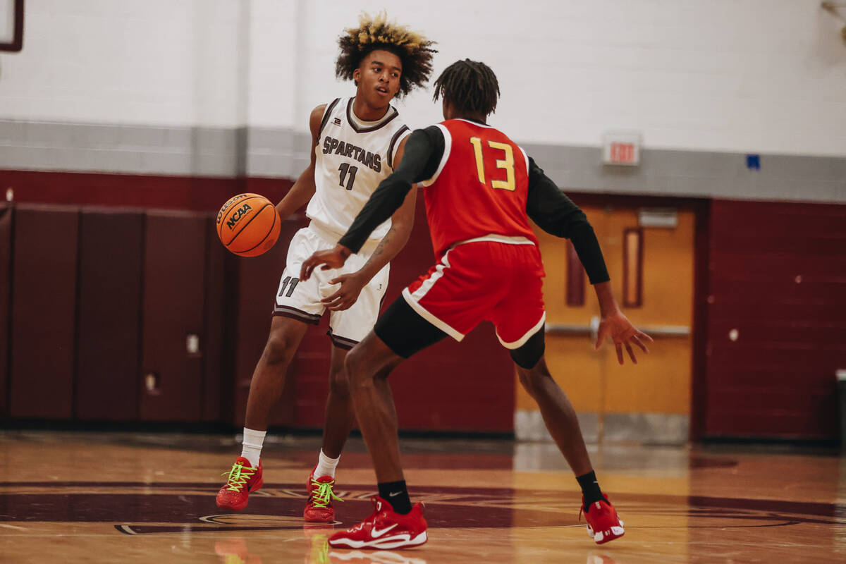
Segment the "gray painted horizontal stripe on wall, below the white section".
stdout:
<svg viewBox="0 0 846 564">
<path fill-rule="evenodd" d="M 292 129 L 178 128 L 0 120 L 0 168 L 296 178 L 310 135 Z M 563 189 L 846 203 L 846 158 L 644 149 L 640 166 L 602 165 L 599 147 L 524 145 Z"/>
</svg>

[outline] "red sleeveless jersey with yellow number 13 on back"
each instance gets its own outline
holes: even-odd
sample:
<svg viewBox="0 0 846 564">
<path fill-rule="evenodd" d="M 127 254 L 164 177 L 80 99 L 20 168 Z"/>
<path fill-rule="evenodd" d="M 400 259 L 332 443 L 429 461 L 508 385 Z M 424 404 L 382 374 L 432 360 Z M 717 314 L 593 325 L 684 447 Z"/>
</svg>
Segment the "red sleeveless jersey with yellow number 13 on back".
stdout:
<svg viewBox="0 0 846 564">
<path fill-rule="evenodd" d="M 444 137 L 443 156 L 435 175 L 420 184 L 426 186 L 426 217 L 438 259 L 453 244 L 476 238 L 525 238 L 537 244 L 526 216 L 525 151 L 481 123 L 449 119 L 437 127 Z"/>
</svg>

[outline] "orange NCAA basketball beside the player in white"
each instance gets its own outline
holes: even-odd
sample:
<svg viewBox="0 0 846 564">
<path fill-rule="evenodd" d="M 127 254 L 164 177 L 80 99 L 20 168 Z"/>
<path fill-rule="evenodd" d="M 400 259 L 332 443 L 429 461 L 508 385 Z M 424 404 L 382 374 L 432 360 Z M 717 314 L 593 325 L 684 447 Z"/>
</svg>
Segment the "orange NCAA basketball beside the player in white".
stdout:
<svg viewBox="0 0 846 564">
<path fill-rule="evenodd" d="M 217 237 L 239 256 L 258 256 L 279 237 L 276 206 L 260 194 L 238 194 L 217 212 Z"/>
</svg>

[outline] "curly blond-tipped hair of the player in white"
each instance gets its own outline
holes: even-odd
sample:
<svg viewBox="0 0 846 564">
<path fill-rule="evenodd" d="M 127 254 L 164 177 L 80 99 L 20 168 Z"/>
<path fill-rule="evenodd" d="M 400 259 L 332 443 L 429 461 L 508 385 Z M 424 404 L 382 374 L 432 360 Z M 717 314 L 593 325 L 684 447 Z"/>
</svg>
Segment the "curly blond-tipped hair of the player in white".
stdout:
<svg viewBox="0 0 846 564">
<path fill-rule="evenodd" d="M 437 52 L 431 48 L 434 41 L 405 25 L 387 21 L 386 12 L 376 14 L 376 17 L 361 14 L 359 26 L 344 31 L 344 35 L 338 38 L 341 54 L 335 62 L 335 76 L 339 79 L 353 79 L 355 69 L 370 52 L 384 50 L 399 57 L 403 64 L 398 97 L 405 96 L 415 86 L 426 84 L 431 74 L 432 54 Z"/>
</svg>

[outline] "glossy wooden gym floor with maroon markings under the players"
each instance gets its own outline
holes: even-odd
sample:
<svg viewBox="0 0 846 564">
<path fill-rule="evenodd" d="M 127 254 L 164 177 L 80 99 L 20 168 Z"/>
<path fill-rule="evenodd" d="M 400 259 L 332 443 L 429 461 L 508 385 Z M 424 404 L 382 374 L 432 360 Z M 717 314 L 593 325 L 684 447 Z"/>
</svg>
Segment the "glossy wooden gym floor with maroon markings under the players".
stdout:
<svg viewBox="0 0 846 564">
<path fill-rule="evenodd" d="M 317 437 L 268 439 L 265 486 L 217 509 L 232 436 L 0 432 L 0 561 L 830 562 L 846 561 L 846 458 L 783 446 L 592 447 L 624 538 L 597 546 L 552 446 L 402 441 L 430 540 L 414 550 L 331 550 L 304 528 Z M 351 439 L 338 468 L 338 528 L 371 513 L 370 460 Z"/>
</svg>

